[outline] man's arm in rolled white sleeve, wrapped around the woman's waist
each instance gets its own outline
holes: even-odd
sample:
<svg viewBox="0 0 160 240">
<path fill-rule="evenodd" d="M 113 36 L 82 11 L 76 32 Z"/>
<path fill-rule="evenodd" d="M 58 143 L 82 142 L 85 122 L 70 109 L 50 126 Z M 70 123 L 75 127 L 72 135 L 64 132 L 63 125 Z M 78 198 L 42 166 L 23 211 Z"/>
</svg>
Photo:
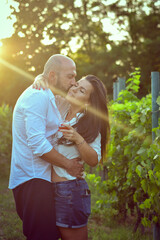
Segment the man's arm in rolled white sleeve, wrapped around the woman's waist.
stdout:
<svg viewBox="0 0 160 240">
<path fill-rule="evenodd" d="M 49 104 L 48 97 L 43 91 L 33 90 L 33 94 L 29 97 L 24 110 L 28 146 L 37 157 L 41 157 L 53 165 L 66 169 L 72 176 L 80 177 L 83 166 L 78 163 L 78 160 L 69 161 L 62 154 L 58 153 L 46 139 Z"/>
</svg>

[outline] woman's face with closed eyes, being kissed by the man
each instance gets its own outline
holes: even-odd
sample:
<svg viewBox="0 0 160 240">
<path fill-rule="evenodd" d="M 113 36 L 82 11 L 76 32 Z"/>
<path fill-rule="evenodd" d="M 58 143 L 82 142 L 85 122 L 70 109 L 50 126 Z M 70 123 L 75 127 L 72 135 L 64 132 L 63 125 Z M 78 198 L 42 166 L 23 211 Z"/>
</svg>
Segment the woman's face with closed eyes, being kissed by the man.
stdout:
<svg viewBox="0 0 160 240">
<path fill-rule="evenodd" d="M 89 103 L 89 98 L 91 93 L 93 92 L 93 86 L 90 82 L 88 82 L 85 78 L 80 79 L 75 86 L 72 86 L 68 93 L 66 99 L 74 104 L 74 98 L 82 104 Z"/>
</svg>

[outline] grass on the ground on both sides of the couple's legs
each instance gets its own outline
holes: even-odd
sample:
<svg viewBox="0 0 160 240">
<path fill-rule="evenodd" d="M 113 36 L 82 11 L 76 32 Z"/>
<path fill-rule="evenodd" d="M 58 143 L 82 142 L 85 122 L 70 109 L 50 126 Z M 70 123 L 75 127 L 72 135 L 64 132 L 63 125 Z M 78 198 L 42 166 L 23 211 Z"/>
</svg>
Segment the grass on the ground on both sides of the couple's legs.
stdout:
<svg viewBox="0 0 160 240">
<path fill-rule="evenodd" d="M 0 240 L 24 240 L 22 223 L 15 210 L 12 191 L 8 189 L 8 178 L 0 178 L 0 182 Z M 88 230 L 89 240 L 153 239 L 152 230 L 143 235 L 141 231 L 133 234 L 133 221 L 125 225 L 118 224 L 97 213 L 91 215 Z"/>
</svg>

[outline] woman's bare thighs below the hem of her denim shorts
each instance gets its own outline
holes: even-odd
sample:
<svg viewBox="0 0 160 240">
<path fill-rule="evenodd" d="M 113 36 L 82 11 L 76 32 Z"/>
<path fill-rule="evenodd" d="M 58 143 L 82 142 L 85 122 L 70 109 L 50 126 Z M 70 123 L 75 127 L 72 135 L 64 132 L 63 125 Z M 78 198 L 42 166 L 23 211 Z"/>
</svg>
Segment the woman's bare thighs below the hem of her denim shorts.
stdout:
<svg viewBox="0 0 160 240">
<path fill-rule="evenodd" d="M 82 228 L 59 227 L 62 240 L 88 240 L 87 226 Z"/>
</svg>

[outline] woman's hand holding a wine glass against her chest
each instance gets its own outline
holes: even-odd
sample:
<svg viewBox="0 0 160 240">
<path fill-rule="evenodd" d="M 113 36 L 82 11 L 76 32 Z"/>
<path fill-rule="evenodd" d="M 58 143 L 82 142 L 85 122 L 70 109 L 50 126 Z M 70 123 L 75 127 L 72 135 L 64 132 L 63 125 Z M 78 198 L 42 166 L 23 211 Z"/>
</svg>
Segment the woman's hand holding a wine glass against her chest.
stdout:
<svg viewBox="0 0 160 240">
<path fill-rule="evenodd" d="M 63 133 L 65 139 L 70 140 L 77 145 L 84 141 L 84 138 L 73 127 L 66 123 L 61 125 L 59 131 Z"/>
</svg>

